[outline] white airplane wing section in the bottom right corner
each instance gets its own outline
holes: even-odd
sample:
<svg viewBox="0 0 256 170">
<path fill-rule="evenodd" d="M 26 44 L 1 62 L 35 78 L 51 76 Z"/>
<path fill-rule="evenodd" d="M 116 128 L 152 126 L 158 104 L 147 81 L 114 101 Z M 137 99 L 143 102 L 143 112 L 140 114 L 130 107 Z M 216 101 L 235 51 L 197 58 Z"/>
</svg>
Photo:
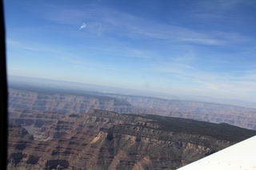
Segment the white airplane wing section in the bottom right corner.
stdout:
<svg viewBox="0 0 256 170">
<path fill-rule="evenodd" d="M 256 136 L 178 170 L 256 170 Z"/>
</svg>

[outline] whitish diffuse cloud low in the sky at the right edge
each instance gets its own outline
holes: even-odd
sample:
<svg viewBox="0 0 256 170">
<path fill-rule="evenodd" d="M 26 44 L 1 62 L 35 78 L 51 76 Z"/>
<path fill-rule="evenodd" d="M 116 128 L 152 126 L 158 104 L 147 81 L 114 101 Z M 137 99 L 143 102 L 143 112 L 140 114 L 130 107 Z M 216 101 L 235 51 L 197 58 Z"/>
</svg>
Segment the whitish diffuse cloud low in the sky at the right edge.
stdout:
<svg viewBox="0 0 256 170">
<path fill-rule="evenodd" d="M 160 74 L 176 77 L 178 80 L 186 80 L 190 84 L 187 88 L 194 86 L 219 95 L 227 93 L 250 94 L 256 93 L 256 70 L 210 73 L 205 70 L 194 68 L 190 64 L 166 63 L 158 68 Z M 184 88 L 184 86 L 183 86 Z"/>
</svg>

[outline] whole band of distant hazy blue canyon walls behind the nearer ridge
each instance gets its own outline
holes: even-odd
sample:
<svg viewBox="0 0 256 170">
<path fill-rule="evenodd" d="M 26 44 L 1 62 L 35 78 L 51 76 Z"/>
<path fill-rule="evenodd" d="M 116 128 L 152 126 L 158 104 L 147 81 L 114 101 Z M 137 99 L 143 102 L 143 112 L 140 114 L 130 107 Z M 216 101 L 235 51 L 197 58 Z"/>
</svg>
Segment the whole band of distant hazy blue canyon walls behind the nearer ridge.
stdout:
<svg viewBox="0 0 256 170">
<path fill-rule="evenodd" d="M 12 86 L 9 94 L 10 113 L 14 109 L 64 114 L 103 109 L 117 113 L 145 113 L 227 123 L 256 130 L 256 109 L 235 105 L 26 86 Z"/>
</svg>

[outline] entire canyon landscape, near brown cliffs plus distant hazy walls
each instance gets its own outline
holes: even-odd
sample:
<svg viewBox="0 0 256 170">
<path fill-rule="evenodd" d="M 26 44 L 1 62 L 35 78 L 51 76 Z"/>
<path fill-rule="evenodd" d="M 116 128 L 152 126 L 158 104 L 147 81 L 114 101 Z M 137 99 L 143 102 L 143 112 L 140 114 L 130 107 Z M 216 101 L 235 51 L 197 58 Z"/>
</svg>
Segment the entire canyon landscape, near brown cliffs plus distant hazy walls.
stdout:
<svg viewBox="0 0 256 170">
<path fill-rule="evenodd" d="M 256 135 L 256 109 L 202 101 L 23 85 L 8 110 L 8 169 L 177 169 Z"/>
</svg>

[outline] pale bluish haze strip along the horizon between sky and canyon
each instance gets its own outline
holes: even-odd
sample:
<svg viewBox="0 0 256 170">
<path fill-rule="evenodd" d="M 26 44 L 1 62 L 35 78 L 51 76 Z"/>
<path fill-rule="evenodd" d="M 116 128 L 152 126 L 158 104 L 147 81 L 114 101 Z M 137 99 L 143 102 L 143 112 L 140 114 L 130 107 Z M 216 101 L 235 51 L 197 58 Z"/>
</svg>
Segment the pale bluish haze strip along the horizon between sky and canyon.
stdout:
<svg viewBox="0 0 256 170">
<path fill-rule="evenodd" d="M 77 83 L 72 81 L 58 81 L 46 78 L 37 77 L 19 77 L 14 75 L 8 76 L 9 87 L 12 85 L 30 85 L 31 87 L 42 87 L 42 88 L 54 88 L 54 89 L 66 89 L 66 90 L 76 90 L 81 91 L 81 93 L 98 93 L 101 95 L 103 93 L 107 94 L 117 94 L 117 95 L 128 95 L 128 96 L 140 96 L 140 97 L 156 97 L 167 100 L 181 100 L 181 101 L 201 101 L 218 103 L 223 105 L 237 105 L 247 108 L 256 108 L 256 103 L 254 101 L 246 101 L 239 99 L 221 98 L 221 97 L 209 97 L 200 95 L 175 95 L 170 93 L 159 93 L 151 92 L 146 90 L 138 89 L 126 89 L 118 88 L 107 85 L 94 85 L 86 83 Z"/>
</svg>

